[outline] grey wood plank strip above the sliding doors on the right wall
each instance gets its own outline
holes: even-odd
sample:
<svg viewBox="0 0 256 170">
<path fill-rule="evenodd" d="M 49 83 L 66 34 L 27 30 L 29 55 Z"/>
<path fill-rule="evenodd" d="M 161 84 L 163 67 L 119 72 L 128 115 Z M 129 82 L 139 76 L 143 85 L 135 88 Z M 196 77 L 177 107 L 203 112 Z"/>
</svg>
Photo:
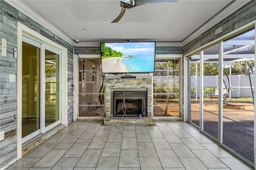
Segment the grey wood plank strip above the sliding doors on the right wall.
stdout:
<svg viewBox="0 0 256 170">
<path fill-rule="evenodd" d="M 186 44 L 183 48 L 183 54 L 190 53 L 226 34 L 256 20 L 256 0 L 250 1 L 248 4 L 227 16 L 224 20 Z M 222 32 L 215 35 L 215 30 L 222 26 Z"/>
</svg>

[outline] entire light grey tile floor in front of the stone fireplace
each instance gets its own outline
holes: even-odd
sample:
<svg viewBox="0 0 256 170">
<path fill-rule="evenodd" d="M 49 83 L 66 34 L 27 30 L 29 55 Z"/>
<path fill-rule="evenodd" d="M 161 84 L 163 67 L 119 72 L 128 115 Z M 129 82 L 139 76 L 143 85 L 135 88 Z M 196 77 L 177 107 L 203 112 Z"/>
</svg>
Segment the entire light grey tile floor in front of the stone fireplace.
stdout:
<svg viewBox="0 0 256 170">
<path fill-rule="evenodd" d="M 72 122 L 14 163 L 30 170 L 247 170 L 184 122 L 104 126 Z"/>
</svg>

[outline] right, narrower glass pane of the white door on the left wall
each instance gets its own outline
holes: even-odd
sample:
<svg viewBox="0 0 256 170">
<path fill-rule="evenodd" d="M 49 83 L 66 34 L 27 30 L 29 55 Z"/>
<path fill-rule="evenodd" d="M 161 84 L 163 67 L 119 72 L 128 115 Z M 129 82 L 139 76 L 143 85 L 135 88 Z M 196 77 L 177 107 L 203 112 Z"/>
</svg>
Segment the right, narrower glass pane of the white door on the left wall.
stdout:
<svg viewBox="0 0 256 170">
<path fill-rule="evenodd" d="M 59 117 L 59 55 L 45 50 L 45 127 Z"/>
</svg>

